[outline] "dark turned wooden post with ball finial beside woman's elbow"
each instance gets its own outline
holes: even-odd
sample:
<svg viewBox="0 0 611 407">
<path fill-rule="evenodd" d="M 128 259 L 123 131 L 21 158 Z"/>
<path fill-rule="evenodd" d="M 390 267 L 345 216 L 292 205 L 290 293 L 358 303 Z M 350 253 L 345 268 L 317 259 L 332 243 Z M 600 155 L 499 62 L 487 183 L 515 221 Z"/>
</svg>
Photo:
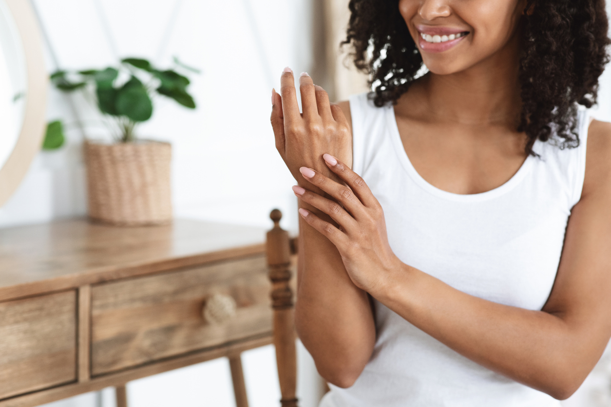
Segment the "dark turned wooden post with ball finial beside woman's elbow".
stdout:
<svg viewBox="0 0 611 407">
<path fill-rule="evenodd" d="M 295 347 L 295 320 L 291 279 L 291 246 L 288 232 L 280 228 L 282 212 L 274 209 L 269 214 L 274 228 L 267 233 L 267 261 L 271 280 L 271 299 L 274 309 L 274 345 L 280 381 L 282 407 L 298 407 L 297 352 Z"/>
</svg>

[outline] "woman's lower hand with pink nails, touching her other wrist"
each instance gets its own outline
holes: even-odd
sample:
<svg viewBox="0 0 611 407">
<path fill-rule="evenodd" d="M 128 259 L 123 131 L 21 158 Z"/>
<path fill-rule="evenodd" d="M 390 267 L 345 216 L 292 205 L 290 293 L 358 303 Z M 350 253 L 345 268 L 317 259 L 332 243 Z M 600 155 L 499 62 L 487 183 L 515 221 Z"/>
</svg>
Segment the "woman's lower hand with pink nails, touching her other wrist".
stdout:
<svg viewBox="0 0 611 407">
<path fill-rule="evenodd" d="M 293 191 L 299 199 L 329 215 L 339 228 L 305 209 L 299 209 L 299 214 L 337 247 L 353 283 L 373 295 L 372 292 L 386 286 L 389 276 L 402 264 L 390 249 L 384 211 L 357 173 L 329 154 L 324 154 L 323 158 L 327 167 L 347 186 L 312 168 L 301 167 L 299 171 L 304 179 L 337 202 L 298 185 Z"/>
</svg>

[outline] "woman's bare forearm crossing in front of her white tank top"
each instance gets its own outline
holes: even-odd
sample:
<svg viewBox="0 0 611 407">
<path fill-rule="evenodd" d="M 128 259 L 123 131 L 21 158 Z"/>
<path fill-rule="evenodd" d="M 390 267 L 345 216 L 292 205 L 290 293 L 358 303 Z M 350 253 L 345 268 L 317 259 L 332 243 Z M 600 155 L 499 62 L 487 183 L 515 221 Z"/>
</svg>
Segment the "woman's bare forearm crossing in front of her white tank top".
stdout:
<svg viewBox="0 0 611 407">
<path fill-rule="evenodd" d="M 585 345 L 560 316 L 465 294 L 405 264 L 371 294 L 461 355 L 555 398 L 572 394 L 598 360 L 573 357 Z"/>
</svg>

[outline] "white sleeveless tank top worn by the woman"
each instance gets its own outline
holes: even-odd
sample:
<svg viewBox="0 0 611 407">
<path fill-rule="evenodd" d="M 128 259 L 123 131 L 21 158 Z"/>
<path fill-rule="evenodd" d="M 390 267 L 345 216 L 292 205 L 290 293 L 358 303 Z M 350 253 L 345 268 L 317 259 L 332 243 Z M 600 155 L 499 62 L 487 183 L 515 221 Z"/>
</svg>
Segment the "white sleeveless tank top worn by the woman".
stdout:
<svg viewBox="0 0 611 407">
<path fill-rule="evenodd" d="M 585 173 L 587 110 L 578 148 L 537 141 L 505 184 L 459 195 L 414 169 L 392 106 L 350 98 L 353 168 L 384 209 L 398 258 L 496 303 L 540 310 L 554 284 L 565 228 Z M 459 355 L 378 301 L 373 355 L 353 386 L 330 385 L 321 407 L 558 407 L 543 392 Z M 494 321 L 490 321 L 491 328 Z"/>
</svg>

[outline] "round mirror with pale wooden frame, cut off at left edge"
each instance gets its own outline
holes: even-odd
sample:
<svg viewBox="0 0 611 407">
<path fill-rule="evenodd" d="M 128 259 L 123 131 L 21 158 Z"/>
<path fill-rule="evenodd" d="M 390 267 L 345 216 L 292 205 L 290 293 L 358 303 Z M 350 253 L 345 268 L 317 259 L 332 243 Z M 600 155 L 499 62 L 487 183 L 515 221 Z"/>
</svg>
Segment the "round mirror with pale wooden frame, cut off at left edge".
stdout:
<svg viewBox="0 0 611 407">
<path fill-rule="evenodd" d="M 0 205 L 40 151 L 47 80 L 29 1 L 0 0 Z"/>
</svg>

